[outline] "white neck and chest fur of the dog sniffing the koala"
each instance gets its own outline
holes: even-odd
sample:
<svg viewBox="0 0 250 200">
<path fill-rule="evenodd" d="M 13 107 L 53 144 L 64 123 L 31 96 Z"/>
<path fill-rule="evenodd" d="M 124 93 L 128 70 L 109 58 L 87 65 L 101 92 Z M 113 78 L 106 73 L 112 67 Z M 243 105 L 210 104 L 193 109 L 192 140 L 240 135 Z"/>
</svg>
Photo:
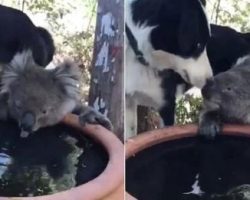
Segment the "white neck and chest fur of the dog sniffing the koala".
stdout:
<svg viewBox="0 0 250 200">
<path fill-rule="evenodd" d="M 135 0 L 125 1 L 125 21 L 131 29 L 134 37 L 137 40 L 138 48 L 143 52 L 147 62 L 152 63 L 151 51 L 152 46 L 149 42 L 149 35 L 154 27 L 139 26 L 133 22 L 131 15 L 131 4 Z M 163 94 L 160 88 L 161 80 L 151 67 L 145 67 L 140 64 L 135 57 L 134 51 L 126 41 L 126 59 L 125 59 L 125 90 L 126 94 L 133 96 L 135 93 L 141 93 L 149 98 L 151 102 L 141 102 L 139 99 L 134 99 L 136 104 L 146 106 L 160 107 L 163 104 Z"/>
</svg>

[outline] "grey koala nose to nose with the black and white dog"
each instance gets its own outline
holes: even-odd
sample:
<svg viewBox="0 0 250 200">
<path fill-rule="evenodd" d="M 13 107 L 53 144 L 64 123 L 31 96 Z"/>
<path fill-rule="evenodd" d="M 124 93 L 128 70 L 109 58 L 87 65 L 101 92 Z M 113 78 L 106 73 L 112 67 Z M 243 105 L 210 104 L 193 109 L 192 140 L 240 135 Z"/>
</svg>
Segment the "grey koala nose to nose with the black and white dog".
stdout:
<svg viewBox="0 0 250 200">
<path fill-rule="evenodd" d="M 230 70 L 209 79 L 202 89 L 199 133 L 214 138 L 223 123 L 250 123 L 250 55 Z"/>
</svg>

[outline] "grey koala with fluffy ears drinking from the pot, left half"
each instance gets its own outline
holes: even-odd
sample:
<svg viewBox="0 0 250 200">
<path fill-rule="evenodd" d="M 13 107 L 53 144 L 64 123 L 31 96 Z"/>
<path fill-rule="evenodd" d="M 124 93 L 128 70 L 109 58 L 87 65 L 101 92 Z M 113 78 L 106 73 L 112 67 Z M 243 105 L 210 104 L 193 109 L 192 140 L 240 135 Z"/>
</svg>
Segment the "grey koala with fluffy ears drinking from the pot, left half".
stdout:
<svg viewBox="0 0 250 200">
<path fill-rule="evenodd" d="M 99 123 L 112 129 L 104 115 L 80 103 L 79 74 L 70 61 L 46 70 L 36 66 L 30 51 L 17 54 L 4 67 L 0 120 L 16 120 L 24 137 L 57 124 L 71 112 L 79 114 L 82 124 Z"/>
</svg>

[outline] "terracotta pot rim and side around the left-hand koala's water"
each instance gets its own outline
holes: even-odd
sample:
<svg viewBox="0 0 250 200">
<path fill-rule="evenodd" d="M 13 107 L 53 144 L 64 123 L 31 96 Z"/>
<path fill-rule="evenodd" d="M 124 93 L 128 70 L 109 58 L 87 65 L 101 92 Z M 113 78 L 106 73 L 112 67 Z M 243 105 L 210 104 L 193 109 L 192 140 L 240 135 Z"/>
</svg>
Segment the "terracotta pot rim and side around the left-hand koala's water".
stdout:
<svg viewBox="0 0 250 200">
<path fill-rule="evenodd" d="M 0 197 L 0 200 L 122 200 L 124 198 L 124 147 L 120 140 L 100 125 L 81 127 L 78 117 L 69 114 L 63 123 L 82 130 L 104 146 L 109 154 L 106 169 L 86 184 L 52 195 Z"/>
</svg>

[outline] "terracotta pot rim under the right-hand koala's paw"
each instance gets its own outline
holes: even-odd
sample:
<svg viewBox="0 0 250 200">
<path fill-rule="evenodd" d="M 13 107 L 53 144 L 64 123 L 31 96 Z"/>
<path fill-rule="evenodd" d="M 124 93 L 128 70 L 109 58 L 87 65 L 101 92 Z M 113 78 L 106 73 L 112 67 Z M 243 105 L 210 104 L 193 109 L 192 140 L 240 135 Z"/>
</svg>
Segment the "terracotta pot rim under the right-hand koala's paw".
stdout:
<svg viewBox="0 0 250 200">
<path fill-rule="evenodd" d="M 250 137 L 250 125 L 225 125 L 223 134 Z M 127 140 L 125 145 L 126 159 L 156 144 L 195 136 L 197 136 L 196 125 L 172 126 L 148 131 Z M 135 199 L 129 194 L 126 194 L 126 196 L 126 200 Z"/>
</svg>

